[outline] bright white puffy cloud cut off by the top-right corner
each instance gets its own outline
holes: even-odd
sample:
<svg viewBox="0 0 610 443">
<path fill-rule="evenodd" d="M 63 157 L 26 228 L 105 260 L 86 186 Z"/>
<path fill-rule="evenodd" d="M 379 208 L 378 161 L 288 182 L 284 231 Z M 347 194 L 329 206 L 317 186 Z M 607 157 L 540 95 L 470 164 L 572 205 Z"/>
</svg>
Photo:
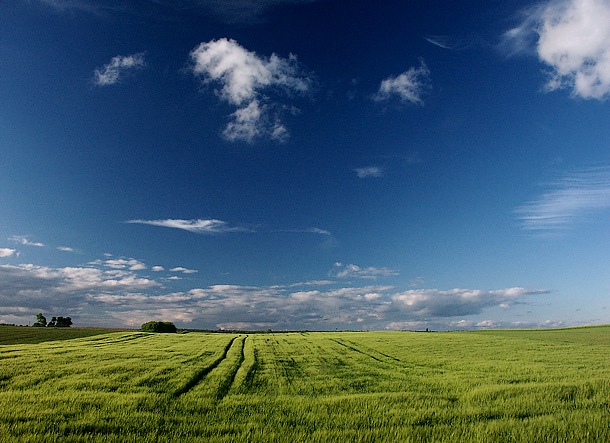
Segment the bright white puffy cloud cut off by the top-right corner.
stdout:
<svg viewBox="0 0 610 443">
<path fill-rule="evenodd" d="M 524 12 L 523 21 L 503 35 L 513 53 L 532 43 L 550 67 L 547 91 L 570 89 L 585 99 L 610 95 L 610 2 L 552 0 Z"/>
</svg>

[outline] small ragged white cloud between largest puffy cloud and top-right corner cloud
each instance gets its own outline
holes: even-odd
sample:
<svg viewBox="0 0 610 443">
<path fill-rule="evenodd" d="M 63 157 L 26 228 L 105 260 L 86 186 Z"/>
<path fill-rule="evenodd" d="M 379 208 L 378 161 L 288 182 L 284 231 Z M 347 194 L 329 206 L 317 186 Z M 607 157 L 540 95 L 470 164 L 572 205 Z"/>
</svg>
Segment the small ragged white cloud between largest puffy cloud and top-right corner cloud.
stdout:
<svg viewBox="0 0 610 443">
<path fill-rule="evenodd" d="M 418 68 L 409 68 L 396 77 L 383 80 L 373 99 L 385 101 L 397 96 L 402 102 L 422 105 L 424 102 L 421 97 L 428 89 L 430 89 L 430 70 L 422 60 Z"/>
</svg>

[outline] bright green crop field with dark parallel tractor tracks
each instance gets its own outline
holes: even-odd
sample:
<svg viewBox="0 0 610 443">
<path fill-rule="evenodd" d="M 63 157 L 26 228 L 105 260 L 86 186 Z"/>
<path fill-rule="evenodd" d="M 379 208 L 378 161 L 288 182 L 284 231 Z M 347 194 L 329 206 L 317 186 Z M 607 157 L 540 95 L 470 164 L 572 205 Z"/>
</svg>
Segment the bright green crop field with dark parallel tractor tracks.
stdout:
<svg viewBox="0 0 610 443">
<path fill-rule="evenodd" d="M 26 342 L 0 441 L 610 441 L 610 327 Z"/>
</svg>

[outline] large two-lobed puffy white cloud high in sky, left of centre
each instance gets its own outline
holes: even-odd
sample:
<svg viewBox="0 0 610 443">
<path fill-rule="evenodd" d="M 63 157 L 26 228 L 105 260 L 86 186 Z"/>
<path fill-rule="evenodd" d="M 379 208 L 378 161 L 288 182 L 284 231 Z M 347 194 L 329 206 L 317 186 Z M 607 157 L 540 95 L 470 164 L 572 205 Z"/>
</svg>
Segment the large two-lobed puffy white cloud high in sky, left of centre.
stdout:
<svg viewBox="0 0 610 443">
<path fill-rule="evenodd" d="M 251 143 L 260 137 L 288 138 L 280 119 L 282 107 L 270 102 L 262 91 L 303 94 L 311 89 L 312 80 L 302 74 L 296 56 L 261 57 L 235 40 L 221 38 L 199 44 L 190 57 L 193 74 L 204 84 L 220 84 L 218 96 L 237 107 L 223 131 L 227 140 Z"/>
</svg>

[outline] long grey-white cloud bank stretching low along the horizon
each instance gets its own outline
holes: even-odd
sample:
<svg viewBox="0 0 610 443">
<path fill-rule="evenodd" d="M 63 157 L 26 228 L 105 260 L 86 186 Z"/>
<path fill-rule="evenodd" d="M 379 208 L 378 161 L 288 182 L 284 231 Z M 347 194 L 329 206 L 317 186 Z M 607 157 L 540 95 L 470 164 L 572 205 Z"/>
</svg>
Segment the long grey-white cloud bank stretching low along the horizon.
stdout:
<svg viewBox="0 0 610 443">
<path fill-rule="evenodd" d="M 36 312 L 61 312 L 79 324 L 106 326 L 137 326 L 163 318 L 197 328 L 411 329 L 418 324 L 447 326 L 545 293 L 523 288 L 400 291 L 389 285 L 340 286 L 329 280 L 176 291 L 164 290 L 159 282 L 131 270 L 133 265 L 130 260 L 64 268 L 0 265 L 0 315 L 27 322 Z M 182 267 L 169 271 L 191 272 Z"/>
</svg>

